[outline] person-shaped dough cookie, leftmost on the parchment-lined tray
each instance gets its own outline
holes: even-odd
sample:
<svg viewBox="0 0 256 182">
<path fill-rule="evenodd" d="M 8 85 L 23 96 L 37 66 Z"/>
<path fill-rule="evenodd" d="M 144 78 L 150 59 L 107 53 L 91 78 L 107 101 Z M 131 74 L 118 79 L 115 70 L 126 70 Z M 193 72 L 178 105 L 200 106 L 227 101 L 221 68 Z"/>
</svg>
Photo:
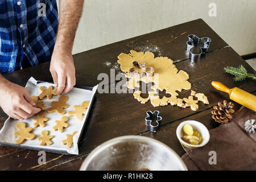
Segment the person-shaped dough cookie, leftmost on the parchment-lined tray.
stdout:
<svg viewBox="0 0 256 182">
<path fill-rule="evenodd" d="M 16 129 L 18 130 L 14 133 L 14 137 L 18 137 L 15 141 L 16 144 L 21 144 L 24 140 L 32 140 L 36 137 L 35 134 L 30 133 L 33 131 L 32 127 L 26 127 L 25 122 L 18 122 L 16 124 Z"/>
</svg>

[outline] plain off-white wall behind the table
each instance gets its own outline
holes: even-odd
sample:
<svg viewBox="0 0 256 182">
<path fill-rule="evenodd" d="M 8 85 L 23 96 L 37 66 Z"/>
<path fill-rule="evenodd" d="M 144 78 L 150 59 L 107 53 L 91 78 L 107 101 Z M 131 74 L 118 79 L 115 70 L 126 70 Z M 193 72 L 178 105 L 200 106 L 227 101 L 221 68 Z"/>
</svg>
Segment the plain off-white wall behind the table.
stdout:
<svg viewBox="0 0 256 182">
<path fill-rule="evenodd" d="M 73 54 L 198 18 L 240 55 L 256 52 L 256 0 L 85 0 Z"/>
</svg>

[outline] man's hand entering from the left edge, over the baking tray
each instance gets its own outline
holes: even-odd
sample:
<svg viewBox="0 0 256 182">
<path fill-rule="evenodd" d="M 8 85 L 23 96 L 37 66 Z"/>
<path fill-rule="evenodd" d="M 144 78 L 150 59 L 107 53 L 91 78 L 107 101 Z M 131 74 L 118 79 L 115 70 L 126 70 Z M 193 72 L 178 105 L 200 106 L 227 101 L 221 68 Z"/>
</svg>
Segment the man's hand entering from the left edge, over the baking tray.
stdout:
<svg viewBox="0 0 256 182">
<path fill-rule="evenodd" d="M 34 107 L 35 102 L 26 88 L 13 84 L 3 77 L 0 79 L 0 106 L 7 115 L 23 120 L 41 111 L 40 108 Z"/>
</svg>

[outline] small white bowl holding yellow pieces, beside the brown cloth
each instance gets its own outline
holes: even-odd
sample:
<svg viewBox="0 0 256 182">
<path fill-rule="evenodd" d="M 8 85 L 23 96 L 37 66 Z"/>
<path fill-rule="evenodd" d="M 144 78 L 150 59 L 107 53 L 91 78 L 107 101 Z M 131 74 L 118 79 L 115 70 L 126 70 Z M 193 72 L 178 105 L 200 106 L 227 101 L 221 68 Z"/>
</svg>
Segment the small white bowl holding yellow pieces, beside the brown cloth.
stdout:
<svg viewBox="0 0 256 182">
<path fill-rule="evenodd" d="M 189 124 L 193 127 L 193 129 L 199 131 L 199 133 L 201 134 L 201 137 L 202 137 L 202 142 L 200 144 L 190 144 L 190 143 L 185 142 L 183 139 L 181 139 L 181 137 L 184 136 L 183 126 L 185 124 Z M 210 134 L 209 134 L 207 127 L 205 127 L 202 123 L 193 121 L 193 120 L 184 121 L 184 122 L 180 123 L 180 125 L 177 127 L 176 135 L 177 135 L 177 138 L 179 139 L 180 143 L 188 148 L 203 147 L 205 144 L 207 144 L 209 142 L 209 139 L 210 139 Z"/>
</svg>

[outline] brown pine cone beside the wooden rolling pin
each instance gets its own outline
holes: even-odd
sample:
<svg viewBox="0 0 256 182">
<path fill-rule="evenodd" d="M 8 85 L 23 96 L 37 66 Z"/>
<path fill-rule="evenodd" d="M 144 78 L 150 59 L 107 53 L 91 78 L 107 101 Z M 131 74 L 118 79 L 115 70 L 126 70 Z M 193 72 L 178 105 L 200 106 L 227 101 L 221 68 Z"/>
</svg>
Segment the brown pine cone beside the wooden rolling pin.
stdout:
<svg viewBox="0 0 256 182">
<path fill-rule="evenodd" d="M 234 104 L 232 102 L 223 101 L 218 102 L 217 106 L 213 107 L 212 118 L 218 123 L 227 123 L 233 118 Z"/>
</svg>

